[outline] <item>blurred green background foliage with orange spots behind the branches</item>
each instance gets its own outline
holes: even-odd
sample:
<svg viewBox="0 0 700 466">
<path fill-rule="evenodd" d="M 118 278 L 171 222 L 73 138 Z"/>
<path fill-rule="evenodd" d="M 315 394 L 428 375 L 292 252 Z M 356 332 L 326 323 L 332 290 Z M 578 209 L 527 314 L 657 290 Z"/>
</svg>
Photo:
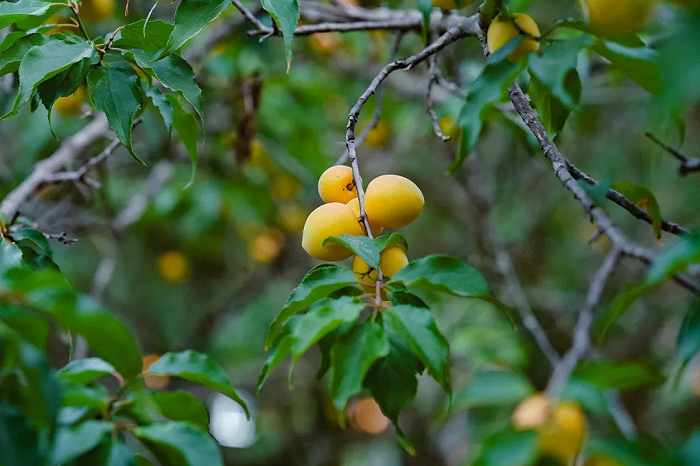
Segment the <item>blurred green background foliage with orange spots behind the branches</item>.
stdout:
<svg viewBox="0 0 700 466">
<path fill-rule="evenodd" d="M 379 6 L 374 0 L 362 4 Z M 403 0 L 382 5 L 416 7 Z M 131 0 L 128 20 L 145 17 L 151 6 Z M 509 6 L 527 11 L 541 30 L 557 20 L 580 17 L 573 1 L 516 0 Z M 118 0 L 112 17 L 88 27 L 109 33 L 123 24 L 123 7 Z M 173 9 L 164 2 L 154 17 L 169 19 Z M 659 5 L 646 29 L 649 40 L 667 40 L 673 32 L 668 27 L 676 24 L 679 11 L 671 4 Z M 218 22 L 237 14 L 230 9 Z M 325 385 L 312 377 L 319 362 L 313 355 L 297 365 L 290 381 L 293 390 L 285 371 L 277 371 L 255 397 L 267 327 L 315 264 L 300 247 L 300 231 L 308 212 L 321 203 L 316 180 L 342 155 L 348 112 L 388 60 L 393 36 L 358 32 L 300 37 L 294 42 L 287 73 L 282 41 L 260 43 L 245 34 L 247 29 L 242 25 L 194 64 L 208 124 L 195 183 L 189 189 L 183 189 L 190 176 L 187 152 L 179 140 L 168 138 L 160 118 L 148 110 L 134 132 L 134 150 L 149 167 L 138 165 L 119 149 L 91 175 L 103 189 L 82 192 L 71 184 L 48 186 L 22 214 L 34 219 L 42 231 L 78 238 L 75 243 L 54 244 L 55 261 L 77 289 L 101 295 L 106 307 L 125 319 L 146 353 L 194 348 L 226 368 L 254 411 L 254 426 L 239 415 L 220 433 L 220 438 L 249 439 L 224 449 L 229 464 L 386 466 L 468 461 L 485 438 L 509 425 L 520 399 L 544 387 L 550 370 L 524 328 L 513 330 L 486 304 L 428 296 L 439 304 L 439 323 L 450 341 L 456 395 L 448 412 L 437 384 L 427 377 L 421 380 L 416 402 L 402 417 L 418 451 L 415 458 L 401 450 L 392 428 L 371 402 L 358 400 L 347 413 L 350 427 L 338 427 Z M 196 47 L 199 39 L 190 46 Z M 697 45 L 682 44 L 690 59 L 698 59 L 691 50 Z M 406 36 L 399 56 L 420 47 L 418 36 Z M 682 50 L 677 52 L 683 56 Z M 439 56 L 445 76 L 464 89 L 483 61 L 475 40 L 460 41 Z M 649 187 L 664 218 L 690 229 L 700 227 L 700 177 L 679 178 L 675 160 L 644 137 L 650 131 L 680 145 L 671 115 L 599 57 L 582 52 L 580 63 L 581 105 L 559 135 L 562 153 L 597 179 L 611 177 Z M 425 66 L 389 79 L 380 124 L 359 150 L 365 182 L 384 173 L 415 181 L 426 206 L 424 214 L 402 231 L 410 245 L 409 258 L 432 253 L 460 257 L 481 270 L 495 294 L 510 303 L 494 266 L 488 220 L 474 201 L 475 195 L 492 198 L 496 224 L 534 312 L 555 348 L 564 352 L 571 344 L 571 328 L 590 276 L 609 248 L 607 240 L 587 244 L 595 227 L 561 189 L 539 149 L 513 123 L 517 115 L 505 103 L 494 111 L 474 156 L 457 174 L 447 175 L 456 145 L 433 135 L 425 112 L 426 85 Z M 443 128 L 454 131 L 462 99 L 439 89 L 437 100 Z M 697 156 L 700 107 L 687 103 L 683 148 Z M 373 105 L 371 101 L 365 108 L 360 128 L 369 121 Z M 24 109 L 17 118 L 4 121 L 0 194 L 9 192 L 36 161 L 84 124 L 80 115 L 53 115 L 55 139 L 43 108 L 35 113 Z M 96 146 L 86 155 L 100 149 Z M 158 163 L 172 165 L 173 176 L 149 192 L 150 167 Z M 139 220 L 124 231 L 115 229 L 114 219 L 122 209 L 144 193 L 148 204 Z M 658 250 L 673 240 L 664 233 L 657 241 L 649 225 L 615 206 L 609 210 L 641 244 Z M 637 264 L 624 263 L 604 302 L 642 277 Z M 634 305 L 598 350 L 612 361 L 644 361 L 671 374 L 677 365 L 676 333 L 689 300 L 688 293 L 673 285 L 658 289 Z M 64 356 L 57 352 L 55 357 L 58 361 Z M 488 406 L 478 394 L 460 393 L 494 369 L 516 374 L 517 381 L 508 385 L 515 387 L 515 394 L 504 394 L 505 402 Z M 522 380 L 517 374 L 524 375 Z M 165 382 L 171 388 L 178 383 Z M 586 409 L 589 447 L 617 448 L 619 435 L 601 401 L 602 391 L 577 379 L 567 390 Z M 217 409 L 228 409 L 207 398 L 206 392 L 195 395 L 210 400 L 212 419 Z M 625 392 L 623 401 L 642 433 L 638 457 L 665 458 L 671 445 L 698 428 L 699 396 L 697 361 L 676 388 L 669 382 Z"/>
</svg>

